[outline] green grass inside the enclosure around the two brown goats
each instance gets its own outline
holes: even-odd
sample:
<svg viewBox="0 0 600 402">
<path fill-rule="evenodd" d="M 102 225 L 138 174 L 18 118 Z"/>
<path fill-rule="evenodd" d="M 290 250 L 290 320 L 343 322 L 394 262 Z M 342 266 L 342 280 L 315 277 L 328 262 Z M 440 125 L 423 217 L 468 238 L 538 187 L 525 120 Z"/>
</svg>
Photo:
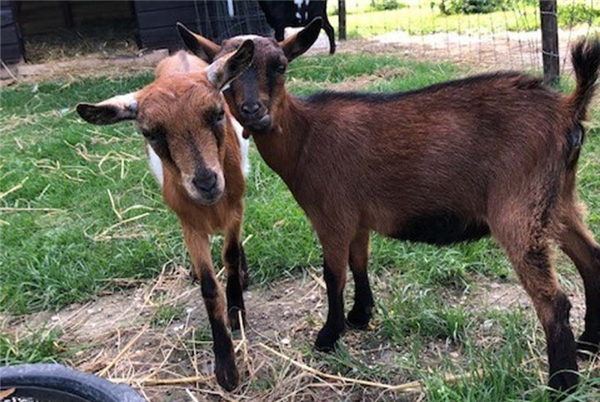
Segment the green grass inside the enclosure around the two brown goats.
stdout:
<svg viewBox="0 0 600 402">
<path fill-rule="evenodd" d="M 294 93 L 306 94 L 389 69 L 403 74 L 369 81 L 364 89 L 406 90 L 463 74 L 447 64 L 342 54 L 295 61 L 289 85 Z M 129 92 L 151 79 L 149 75 L 86 79 L 3 91 L 2 311 L 58 309 L 118 288 L 118 278 L 149 278 L 164 264 L 188 264 L 177 219 L 164 206 L 149 174 L 143 140 L 134 126 L 95 127 L 73 112 L 79 101 Z M 568 91 L 570 85 L 564 84 L 564 89 Z M 244 234 L 252 235 L 246 253 L 253 286 L 320 266 L 320 246 L 303 212 L 255 150 L 251 161 Z M 599 170 L 600 110 L 596 108 L 578 175 L 581 198 L 589 207 L 587 219 L 596 236 L 600 236 Z M 217 238 L 215 259 L 220 258 L 219 245 Z M 362 360 L 348 349 L 350 343 L 331 356 L 316 354 L 306 345 L 302 353 L 311 365 L 373 381 L 422 379 L 429 401 L 549 400 L 538 376 L 546 372 L 539 358 L 545 355 L 545 343 L 532 314 L 517 307 L 478 311 L 456 303 L 481 283 L 516 282 L 493 241 L 436 248 L 374 236 L 370 270 L 380 289 L 372 338 L 399 351 L 393 369 Z M 560 271 L 574 272 L 570 265 Z M 180 307 L 159 304 L 152 324 L 165 326 L 182 315 Z M 482 333 L 487 335 L 479 336 Z M 486 343 L 490 337 L 494 342 Z M 68 359 L 72 351 L 59 338 L 60 334 L 21 339 L 3 335 L 0 364 Z M 209 330 L 199 329 L 194 342 L 208 348 L 210 338 Z M 441 356 L 434 366 L 428 364 L 423 356 L 436 342 L 452 345 L 461 359 Z M 478 370 L 481 374 L 475 375 Z M 443 373 L 473 375 L 454 384 L 445 381 Z M 569 400 L 598 400 L 597 370 L 584 370 L 582 375 L 584 385 Z M 268 390 L 276 384 L 265 376 L 252 387 Z"/>
</svg>

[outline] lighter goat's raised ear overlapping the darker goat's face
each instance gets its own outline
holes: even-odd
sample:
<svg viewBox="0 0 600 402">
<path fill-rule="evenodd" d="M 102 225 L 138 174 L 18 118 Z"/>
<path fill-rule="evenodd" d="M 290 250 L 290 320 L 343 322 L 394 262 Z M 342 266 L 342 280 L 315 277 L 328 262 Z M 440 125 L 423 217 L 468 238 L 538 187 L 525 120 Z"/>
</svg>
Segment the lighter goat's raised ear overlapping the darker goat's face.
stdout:
<svg viewBox="0 0 600 402">
<path fill-rule="evenodd" d="M 220 57 L 208 66 L 208 80 L 217 89 L 223 89 L 250 67 L 253 57 L 254 42 L 250 39 L 245 40 L 235 52 Z"/>
</svg>

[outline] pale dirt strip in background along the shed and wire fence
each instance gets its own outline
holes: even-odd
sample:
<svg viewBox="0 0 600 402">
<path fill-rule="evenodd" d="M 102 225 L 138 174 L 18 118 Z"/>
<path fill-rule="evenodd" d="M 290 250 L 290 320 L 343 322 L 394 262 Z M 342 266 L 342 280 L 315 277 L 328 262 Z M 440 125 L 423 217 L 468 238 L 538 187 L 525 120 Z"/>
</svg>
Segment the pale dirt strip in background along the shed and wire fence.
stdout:
<svg viewBox="0 0 600 402">
<path fill-rule="evenodd" d="M 289 35 L 294 30 L 286 31 Z M 560 31 L 561 72 L 570 74 L 569 46 L 580 36 L 600 32 L 600 28 Z M 338 43 L 338 52 L 393 54 L 419 60 L 445 61 L 466 66 L 473 71 L 525 70 L 542 68 L 541 37 L 534 32 L 498 32 L 488 35 L 440 33 L 408 35 L 390 32 L 370 40 Z M 308 54 L 327 54 L 329 42 L 322 32 Z M 75 79 L 89 76 L 119 76 L 133 72 L 152 72 L 168 51 L 159 50 L 130 57 L 106 57 L 90 54 L 76 60 L 47 64 L 18 64 L 2 67 L 1 86 L 16 82 L 39 82 L 50 79 Z M 8 71 L 10 70 L 10 71 Z"/>
</svg>

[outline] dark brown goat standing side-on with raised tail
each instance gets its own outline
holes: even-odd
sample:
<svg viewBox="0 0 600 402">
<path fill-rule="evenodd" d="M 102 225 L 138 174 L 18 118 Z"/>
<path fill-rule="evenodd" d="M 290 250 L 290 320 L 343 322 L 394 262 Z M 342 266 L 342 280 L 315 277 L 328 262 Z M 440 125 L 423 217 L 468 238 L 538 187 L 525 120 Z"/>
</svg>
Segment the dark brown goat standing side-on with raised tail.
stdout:
<svg viewBox="0 0 600 402">
<path fill-rule="evenodd" d="M 577 383 L 576 348 L 600 344 L 600 246 L 581 220 L 575 188 L 593 96 L 600 42 L 573 50 L 577 87 L 564 96 L 519 73 L 480 75 L 421 90 L 322 92 L 306 99 L 284 88 L 289 61 L 317 38 L 315 21 L 277 43 L 253 38 L 252 66 L 224 92 L 266 163 L 285 181 L 323 246 L 329 312 L 316 347 L 344 331 L 343 290 L 356 286 L 348 323 L 364 328 L 373 297 L 369 233 L 438 245 L 491 234 L 506 251 L 544 327 L 550 386 Z M 236 49 L 195 36 L 208 60 Z M 586 291 L 585 330 L 576 343 L 570 303 L 552 267 L 556 241 Z"/>
</svg>

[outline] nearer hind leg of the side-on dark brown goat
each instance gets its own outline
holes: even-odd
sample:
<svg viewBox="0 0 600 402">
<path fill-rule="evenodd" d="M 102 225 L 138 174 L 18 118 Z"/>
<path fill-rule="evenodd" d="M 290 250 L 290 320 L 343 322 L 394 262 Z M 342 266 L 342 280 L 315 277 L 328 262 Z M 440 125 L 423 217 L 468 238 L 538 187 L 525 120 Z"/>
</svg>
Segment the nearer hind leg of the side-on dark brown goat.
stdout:
<svg viewBox="0 0 600 402">
<path fill-rule="evenodd" d="M 550 387 L 572 390 L 577 385 L 578 374 L 575 338 L 569 325 L 571 304 L 560 289 L 552 267 L 546 231 L 539 222 L 526 222 L 523 217 L 530 216 L 527 213 L 514 216 L 491 224 L 490 228 L 506 250 L 544 327 Z"/>
</svg>

